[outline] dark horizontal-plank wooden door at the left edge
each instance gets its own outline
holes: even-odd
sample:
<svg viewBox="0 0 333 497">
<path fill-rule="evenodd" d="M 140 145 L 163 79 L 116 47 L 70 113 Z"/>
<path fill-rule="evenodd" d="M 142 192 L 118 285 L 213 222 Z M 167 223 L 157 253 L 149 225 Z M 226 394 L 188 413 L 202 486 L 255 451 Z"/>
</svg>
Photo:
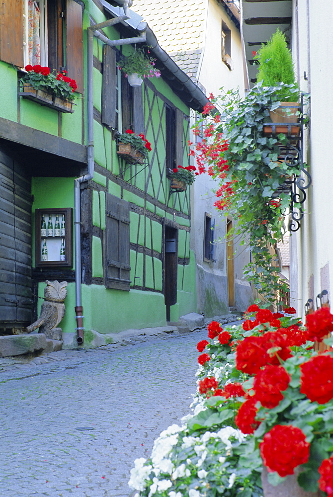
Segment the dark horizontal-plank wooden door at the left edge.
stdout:
<svg viewBox="0 0 333 497">
<path fill-rule="evenodd" d="M 31 323 L 31 180 L 0 151 L 0 328 Z"/>
</svg>

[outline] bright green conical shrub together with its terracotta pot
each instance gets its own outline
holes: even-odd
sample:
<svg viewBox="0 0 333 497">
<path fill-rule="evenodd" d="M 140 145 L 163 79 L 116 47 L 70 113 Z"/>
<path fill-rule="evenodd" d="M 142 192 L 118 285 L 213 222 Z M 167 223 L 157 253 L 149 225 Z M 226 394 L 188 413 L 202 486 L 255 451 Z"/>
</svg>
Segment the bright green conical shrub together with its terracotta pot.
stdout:
<svg viewBox="0 0 333 497">
<path fill-rule="evenodd" d="M 294 64 L 291 51 L 286 42 L 285 35 L 277 28 L 266 45 L 261 45 L 258 52 L 253 52 L 254 59 L 259 63 L 257 82 L 262 81 L 262 86 L 276 86 L 279 83 L 295 85 Z M 272 122 L 290 123 L 297 122 L 299 103 L 295 101 L 298 91 L 284 86 L 277 90 L 280 107 L 271 110 Z M 286 110 L 283 107 L 287 107 Z"/>
</svg>

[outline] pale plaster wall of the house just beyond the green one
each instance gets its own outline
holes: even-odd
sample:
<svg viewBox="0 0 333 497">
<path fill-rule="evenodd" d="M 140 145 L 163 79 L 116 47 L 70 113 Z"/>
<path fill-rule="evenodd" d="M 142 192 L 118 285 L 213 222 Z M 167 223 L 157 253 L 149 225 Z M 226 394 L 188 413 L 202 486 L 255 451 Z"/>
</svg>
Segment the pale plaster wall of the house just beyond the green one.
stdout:
<svg viewBox="0 0 333 497">
<path fill-rule="evenodd" d="M 231 57 L 234 62 L 234 70 L 230 71 L 221 58 L 221 22 L 231 29 Z M 215 0 L 207 2 L 206 26 L 204 32 L 204 50 L 198 70 L 198 81 L 206 89 L 207 95 L 212 92 L 214 95 L 220 93 L 220 88 L 225 89 L 240 88 L 244 95 L 244 73 L 243 54 L 241 36 L 239 30 L 225 9 Z M 191 141 L 194 141 L 193 136 Z M 220 301 L 221 313 L 227 311 L 228 307 L 228 282 L 227 282 L 227 261 L 225 230 L 226 219 L 219 214 L 214 207 L 217 200 L 211 190 L 216 190 L 218 183 L 208 174 L 201 174 L 197 177 L 192 189 L 192 226 L 194 237 L 192 238 L 192 248 L 195 249 L 198 278 L 198 311 L 204 311 L 210 307 L 207 303 L 207 292 L 216 293 L 216 299 Z M 215 246 L 214 258 L 216 262 L 203 261 L 203 240 L 205 212 L 215 219 L 215 238 L 220 241 Z M 249 253 L 243 248 L 237 251 L 235 256 L 235 290 L 236 305 L 240 310 L 245 310 L 249 297 L 250 285 L 243 279 L 243 267 L 249 262 Z M 214 296 L 212 297 L 214 301 Z M 215 313 L 216 315 L 218 312 Z"/>
</svg>

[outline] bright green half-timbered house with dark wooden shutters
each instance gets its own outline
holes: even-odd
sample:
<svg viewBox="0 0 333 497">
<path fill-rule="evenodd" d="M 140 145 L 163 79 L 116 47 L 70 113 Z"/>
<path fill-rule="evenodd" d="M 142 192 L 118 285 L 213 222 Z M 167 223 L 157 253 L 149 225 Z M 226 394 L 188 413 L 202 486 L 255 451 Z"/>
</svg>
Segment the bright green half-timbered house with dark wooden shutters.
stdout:
<svg viewBox="0 0 333 497">
<path fill-rule="evenodd" d="M 190 109 L 207 99 L 128 4 L 8 0 L 0 13 L 2 335 L 37 318 L 46 280 L 68 281 L 63 336 L 79 328 L 86 346 L 93 331 L 161 326 L 196 310 L 190 188 L 171 192 L 170 169 L 189 164 Z M 22 91 L 31 21 L 40 65 L 77 82 L 74 112 Z M 161 78 L 131 87 L 117 63 L 138 46 L 151 47 Z M 142 165 L 117 154 L 127 129 L 151 143 Z"/>
</svg>

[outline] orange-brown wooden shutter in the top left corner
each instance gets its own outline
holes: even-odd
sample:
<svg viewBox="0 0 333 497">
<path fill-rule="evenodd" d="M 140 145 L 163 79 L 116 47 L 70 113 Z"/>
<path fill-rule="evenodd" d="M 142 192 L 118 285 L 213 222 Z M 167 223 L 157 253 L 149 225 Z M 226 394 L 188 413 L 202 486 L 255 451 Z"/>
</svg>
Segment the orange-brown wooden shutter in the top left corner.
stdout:
<svg viewBox="0 0 333 497">
<path fill-rule="evenodd" d="M 23 1 L 2 0 L 0 9 L 0 58 L 23 67 Z"/>
</svg>

